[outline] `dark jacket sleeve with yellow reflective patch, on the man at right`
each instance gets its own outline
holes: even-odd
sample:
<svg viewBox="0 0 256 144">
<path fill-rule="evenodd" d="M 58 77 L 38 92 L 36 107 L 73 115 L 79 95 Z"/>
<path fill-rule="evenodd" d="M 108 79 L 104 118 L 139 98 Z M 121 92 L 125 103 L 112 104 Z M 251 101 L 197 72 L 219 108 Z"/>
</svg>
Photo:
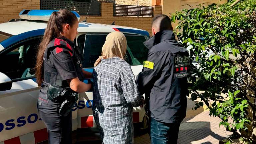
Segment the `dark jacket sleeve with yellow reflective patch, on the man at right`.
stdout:
<svg viewBox="0 0 256 144">
<path fill-rule="evenodd" d="M 148 89 L 152 89 L 156 80 L 161 76 L 161 71 L 166 63 L 170 62 L 170 59 L 171 54 L 169 51 L 149 52 L 147 61 L 143 63 L 142 72 L 136 77 L 138 89 L 141 94 L 144 94 Z"/>
</svg>

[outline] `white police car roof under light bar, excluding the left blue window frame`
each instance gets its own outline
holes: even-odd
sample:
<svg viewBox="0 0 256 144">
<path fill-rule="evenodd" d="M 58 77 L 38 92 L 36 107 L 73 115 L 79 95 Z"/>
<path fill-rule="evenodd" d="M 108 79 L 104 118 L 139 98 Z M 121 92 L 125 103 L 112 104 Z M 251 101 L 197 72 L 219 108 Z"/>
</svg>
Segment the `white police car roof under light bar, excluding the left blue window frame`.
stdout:
<svg viewBox="0 0 256 144">
<path fill-rule="evenodd" d="M 8 33 L 11 35 L 19 35 L 25 32 L 45 29 L 47 22 L 44 21 L 16 21 L 16 22 L 6 22 L 0 24 L 0 31 Z M 107 25 L 107 24 L 98 24 L 98 23 L 84 23 L 79 22 L 79 33 L 110 33 L 113 31 L 121 31 L 123 33 L 138 34 L 138 35 L 148 35 L 149 33 L 145 30 L 116 26 L 116 25 Z"/>
</svg>

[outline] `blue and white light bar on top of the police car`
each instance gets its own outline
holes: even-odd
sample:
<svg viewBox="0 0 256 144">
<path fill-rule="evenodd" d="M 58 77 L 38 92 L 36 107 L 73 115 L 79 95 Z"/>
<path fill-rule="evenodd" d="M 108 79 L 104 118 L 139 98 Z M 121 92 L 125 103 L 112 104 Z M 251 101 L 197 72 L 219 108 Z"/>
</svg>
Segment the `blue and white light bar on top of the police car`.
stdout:
<svg viewBox="0 0 256 144">
<path fill-rule="evenodd" d="M 19 16 L 20 16 L 21 19 L 25 19 L 25 20 L 48 21 L 51 14 L 54 11 L 59 11 L 59 10 L 22 10 L 19 13 Z M 71 12 L 76 15 L 76 17 L 79 21 L 80 20 L 80 15 L 75 11 L 71 11 Z"/>
</svg>

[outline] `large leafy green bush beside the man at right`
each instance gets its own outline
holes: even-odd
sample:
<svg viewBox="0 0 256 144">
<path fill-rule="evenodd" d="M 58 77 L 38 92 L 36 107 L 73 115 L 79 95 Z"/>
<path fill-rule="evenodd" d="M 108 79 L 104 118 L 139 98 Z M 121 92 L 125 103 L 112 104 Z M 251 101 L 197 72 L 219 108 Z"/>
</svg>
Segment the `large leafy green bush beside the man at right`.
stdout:
<svg viewBox="0 0 256 144">
<path fill-rule="evenodd" d="M 220 125 L 237 134 L 251 125 L 248 108 L 256 111 L 250 101 L 256 92 L 256 1 L 231 7 L 233 2 L 177 11 L 171 20 L 178 20 L 177 37 L 198 64 L 189 78 L 191 99 L 201 99 L 194 109 L 205 103 Z"/>
</svg>

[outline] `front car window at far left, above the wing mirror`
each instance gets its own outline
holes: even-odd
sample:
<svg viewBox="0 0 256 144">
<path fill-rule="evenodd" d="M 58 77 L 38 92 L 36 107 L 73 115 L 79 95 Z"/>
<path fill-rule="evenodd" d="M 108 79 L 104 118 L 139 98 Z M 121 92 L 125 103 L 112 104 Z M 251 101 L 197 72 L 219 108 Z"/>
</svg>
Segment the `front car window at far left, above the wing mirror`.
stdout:
<svg viewBox="0 0 256 144">
<path fill-rule="evenodd" d="M 0 56 L 0 72 L 10 79 L 26 78 L 34 76 L 36 65 L 36 51 L 40 39 L 26 41 L 8 49 L 9 52 Z"/>
</svg>

